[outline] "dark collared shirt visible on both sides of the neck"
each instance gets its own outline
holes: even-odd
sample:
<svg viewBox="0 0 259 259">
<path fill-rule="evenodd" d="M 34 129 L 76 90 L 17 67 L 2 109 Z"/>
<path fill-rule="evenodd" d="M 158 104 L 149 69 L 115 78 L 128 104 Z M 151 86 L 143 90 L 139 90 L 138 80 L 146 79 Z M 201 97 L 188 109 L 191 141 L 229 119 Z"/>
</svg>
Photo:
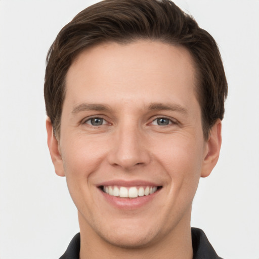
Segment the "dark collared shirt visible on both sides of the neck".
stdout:
<svg viewBox="0 0 259 259">
<path fill-rule="evenodd" d="M 193 259 L 222 259 L 217 255 L 201 229 L 192 228 Z M 79 259 L 80 233 L 71 240 L 67 250 L 59 259 Z"/>
</svg>

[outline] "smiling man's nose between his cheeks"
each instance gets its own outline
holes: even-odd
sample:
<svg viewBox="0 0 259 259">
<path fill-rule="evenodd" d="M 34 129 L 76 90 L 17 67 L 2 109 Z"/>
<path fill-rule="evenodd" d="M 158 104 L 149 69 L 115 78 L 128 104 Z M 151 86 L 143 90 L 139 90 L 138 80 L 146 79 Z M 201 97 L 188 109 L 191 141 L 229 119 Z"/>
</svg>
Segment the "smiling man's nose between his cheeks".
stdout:
<svg viewBox="0 0 259 259">
<path fill-rule="evenodd" d="M 147 165 L 151 158 L 147 136 L 137 126 L 125 125 L 117 128 L 112 139 L 108 162 L 112 166 L 131 170 Z"/>
</svg>

